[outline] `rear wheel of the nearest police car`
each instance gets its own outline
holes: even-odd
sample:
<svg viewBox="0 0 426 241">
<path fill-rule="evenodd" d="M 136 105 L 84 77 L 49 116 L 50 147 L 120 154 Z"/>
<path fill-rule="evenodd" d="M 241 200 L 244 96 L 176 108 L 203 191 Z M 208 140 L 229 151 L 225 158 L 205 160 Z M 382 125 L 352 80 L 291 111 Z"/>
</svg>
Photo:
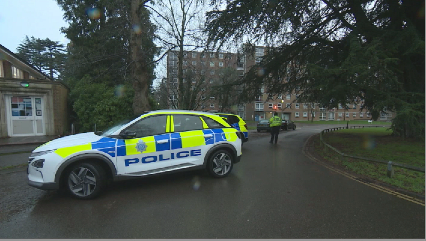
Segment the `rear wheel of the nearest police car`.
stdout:
<svg viewBox="0 0 426 241">
<path fill-rule="evenodd" d="M 229 175 L 234 165 L 232 155 L 226 150 L 219 150 L 210 156 L 207 169 L 215 178 L 223 178 Z"/>
</svg>

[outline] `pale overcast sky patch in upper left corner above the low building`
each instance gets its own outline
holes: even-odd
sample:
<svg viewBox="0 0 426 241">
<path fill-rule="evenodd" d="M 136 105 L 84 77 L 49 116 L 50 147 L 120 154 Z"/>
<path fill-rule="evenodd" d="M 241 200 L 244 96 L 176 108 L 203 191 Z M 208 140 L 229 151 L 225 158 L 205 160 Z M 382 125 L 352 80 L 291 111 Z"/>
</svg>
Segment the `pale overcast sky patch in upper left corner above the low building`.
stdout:
<svg viewBox="0 0 426 241">
<path fill-rule="evenodd" d="M 49 38 L 66 45 L 60 33 L 68 26 L 55 0 L 0 0 L 0 44 L 12 52 L 25 38 Z"/>
</svg>

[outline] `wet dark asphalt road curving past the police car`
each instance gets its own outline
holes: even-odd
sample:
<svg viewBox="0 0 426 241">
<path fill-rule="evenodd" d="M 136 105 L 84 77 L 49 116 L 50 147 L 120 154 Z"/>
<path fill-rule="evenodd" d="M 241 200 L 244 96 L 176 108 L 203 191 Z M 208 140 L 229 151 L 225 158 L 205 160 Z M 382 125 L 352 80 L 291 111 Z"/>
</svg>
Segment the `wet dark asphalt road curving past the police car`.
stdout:
<svg viewBox="0 0 426 241">
<path fill-rule="evenodd" d="M 114 183 L 78 201 L 0 175 L 0 238 L 424 238 L 425 209 L 314 163 L 325 125 L 254 134 L 223 179 L 204 171 Z M 199 189 L 196 187 L 199 184 Z"/>
</svg>

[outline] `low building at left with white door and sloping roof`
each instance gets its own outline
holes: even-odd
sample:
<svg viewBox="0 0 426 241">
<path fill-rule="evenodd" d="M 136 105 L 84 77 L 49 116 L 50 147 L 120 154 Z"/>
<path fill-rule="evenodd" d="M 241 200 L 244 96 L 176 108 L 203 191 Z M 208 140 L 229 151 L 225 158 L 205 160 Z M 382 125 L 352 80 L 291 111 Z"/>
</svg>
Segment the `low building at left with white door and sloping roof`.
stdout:
<svg viewBox="0 0 426 241">
<path fill-rule="evenodd" d="M 0 45 L 0 138 L 62 135 L 69 89 Z"/>
</svg>

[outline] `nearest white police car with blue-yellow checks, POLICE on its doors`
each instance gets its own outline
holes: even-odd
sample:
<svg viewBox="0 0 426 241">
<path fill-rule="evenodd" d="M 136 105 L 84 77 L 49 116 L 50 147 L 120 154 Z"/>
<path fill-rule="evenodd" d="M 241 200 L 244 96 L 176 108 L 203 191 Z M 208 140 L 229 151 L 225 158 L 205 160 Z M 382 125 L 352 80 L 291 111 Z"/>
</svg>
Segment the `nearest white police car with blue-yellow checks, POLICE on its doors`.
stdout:
<svg viewBox="0 0 426 241">
<path fill-rule="evenodd" d="M 29 157 L 28 184 L 91 199 L 108 180 L 183 169 L 207 169 L 222 178 L 240 161 L 242 138 L 242 132 L 218 115 L 145 112 L 102 132 L 70 135 L 37 147 Z"/>
</svg>

